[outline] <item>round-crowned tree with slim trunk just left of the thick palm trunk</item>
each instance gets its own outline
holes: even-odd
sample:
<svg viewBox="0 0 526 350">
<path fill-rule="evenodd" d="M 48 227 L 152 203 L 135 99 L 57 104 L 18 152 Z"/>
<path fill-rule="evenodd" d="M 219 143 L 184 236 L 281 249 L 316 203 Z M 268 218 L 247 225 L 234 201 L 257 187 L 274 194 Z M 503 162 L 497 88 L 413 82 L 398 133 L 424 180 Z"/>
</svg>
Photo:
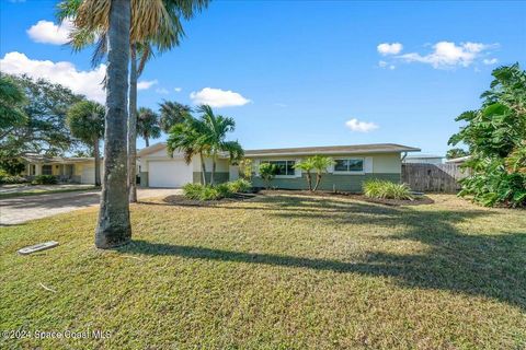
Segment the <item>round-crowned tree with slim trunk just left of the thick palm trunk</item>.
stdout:
<svg viewBox="0 0 526 350">
<path fill-rule="evenodd" d="M 92 101 L 81 101 L 68 110 L 67 124 L 73 137 L 93 148 L 95 185 L 101 186 L 101 155 L 99 145 L 104 137 L 104 106 Z"/>
</svg>

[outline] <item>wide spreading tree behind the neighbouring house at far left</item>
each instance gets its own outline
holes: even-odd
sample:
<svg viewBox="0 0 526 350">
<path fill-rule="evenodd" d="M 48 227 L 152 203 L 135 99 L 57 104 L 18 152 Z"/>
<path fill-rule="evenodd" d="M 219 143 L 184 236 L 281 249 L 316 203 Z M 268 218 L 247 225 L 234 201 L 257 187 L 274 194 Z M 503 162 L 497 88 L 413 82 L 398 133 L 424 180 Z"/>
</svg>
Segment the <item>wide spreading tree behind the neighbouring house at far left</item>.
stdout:
<svg viewBox="0 0 526 350">
<path fill-rule="evenodd" d="M 47 155 L 64 154 L 76 143 L 66 125 L 68 108 L 83 97 L 73 94 L 69 89 L 53 84 L 46 80 L 33 80 L 26 75 L 3 75 L 24 92 L 25 103 L 16 104 L 11 98 L 19 98 L 19 92 L 11 97 L 1 98 L 9 114 L 14 108 L 14 124 L 7 121 L 7 128 L 0 128 L 0 149 L 10 156 L 20 156 L 25 153 L 45 153 Z M 10 100 L 11 98 L 11 100 Z M 13 101 L 13 104 L 10 104 Z M 11 106 L 11 107 L 9 107 Z M 11 109 L 13 110 L 13 109 Z M 22 117 L 23 115 L 23 117 Z M 11 115 L 12 116 L 12 115 Z M 24 120 L 24 121 L 22 121 Z M 5 121 L 2 116 L 2 121 Z"/>
</svg>

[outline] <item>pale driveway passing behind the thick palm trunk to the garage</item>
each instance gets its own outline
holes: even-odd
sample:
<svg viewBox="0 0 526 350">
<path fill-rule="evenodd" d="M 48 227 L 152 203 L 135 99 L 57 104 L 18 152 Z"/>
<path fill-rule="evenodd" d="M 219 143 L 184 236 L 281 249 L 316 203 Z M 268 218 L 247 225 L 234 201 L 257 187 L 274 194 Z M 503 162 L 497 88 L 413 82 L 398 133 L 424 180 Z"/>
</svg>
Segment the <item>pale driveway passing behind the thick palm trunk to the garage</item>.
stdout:
<svg viewBox="0 0 526 350">
<path fill-rule="evenodd" d="M 180 195 L 176 188 L 139 188 L 140 199 Z M 99 190 L 0 199 L 0 226 L 23 223 L 77 209 L 99 206 Z"/>
</svg>

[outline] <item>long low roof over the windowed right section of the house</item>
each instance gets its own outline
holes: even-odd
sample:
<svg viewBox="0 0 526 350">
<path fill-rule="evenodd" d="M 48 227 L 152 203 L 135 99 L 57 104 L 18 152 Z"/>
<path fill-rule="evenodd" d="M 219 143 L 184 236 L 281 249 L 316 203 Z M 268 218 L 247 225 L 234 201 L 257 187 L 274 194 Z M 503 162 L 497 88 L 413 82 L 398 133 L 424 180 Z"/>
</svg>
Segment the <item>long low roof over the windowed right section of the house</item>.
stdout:
<svg viewBox="0 0 526 350">
<path fill-rule="evenodd" d="M 420 149 L 396 144 L 396 143 L 373 143 L 352 145 L 324 145 L 324 147 L 301 147 L 287 149 L 248 150 L 244 156 L 272 156 L 272 155 L 310 155 L 310 154 L 364 154 L 364 153 L 398 153 L 419 152 Z"/>
</svg>

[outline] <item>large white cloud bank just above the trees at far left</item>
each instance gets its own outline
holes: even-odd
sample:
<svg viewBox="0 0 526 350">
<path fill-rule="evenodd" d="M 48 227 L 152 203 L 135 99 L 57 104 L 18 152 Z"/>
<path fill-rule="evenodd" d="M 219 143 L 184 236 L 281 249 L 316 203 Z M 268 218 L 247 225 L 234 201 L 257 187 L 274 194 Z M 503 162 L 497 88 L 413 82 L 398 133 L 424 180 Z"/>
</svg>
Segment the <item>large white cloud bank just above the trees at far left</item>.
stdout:
<svg viewBox="0 0 526 350">
<path fill-rule="evenodd" d="M 0 59 L 0 69 L 9 74 L 27 74 L 31 78 L 47 79 L 53 83 L 71 89 L 77 94 L 104 103 L 106 94 L 102 81 L 106 73 L 106 66 L 101 65 L 93 70 L 78 70 L 68 61 L 53 62 L 49 60 L 30 59 L 21 52 L 8 52 Z"/>
</svg>

